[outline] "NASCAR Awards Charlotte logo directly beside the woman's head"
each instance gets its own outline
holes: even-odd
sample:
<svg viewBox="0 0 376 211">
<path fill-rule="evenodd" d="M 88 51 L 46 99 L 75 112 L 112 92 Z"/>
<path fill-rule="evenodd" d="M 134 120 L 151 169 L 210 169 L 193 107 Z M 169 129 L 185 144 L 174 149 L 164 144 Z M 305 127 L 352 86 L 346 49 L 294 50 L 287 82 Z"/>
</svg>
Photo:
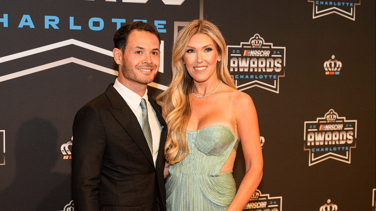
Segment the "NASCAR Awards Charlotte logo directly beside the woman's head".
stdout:
<svg viewBox="0 0 376 211">
<path fill-rule="evenodd" d="M 279 93 L 279 77 L 285 77 L 286 47 L 274 47 L 255 34 L 248 42 L 227 45 L 228 67 L 240 91 L 260 87 Z"/>
</svg>

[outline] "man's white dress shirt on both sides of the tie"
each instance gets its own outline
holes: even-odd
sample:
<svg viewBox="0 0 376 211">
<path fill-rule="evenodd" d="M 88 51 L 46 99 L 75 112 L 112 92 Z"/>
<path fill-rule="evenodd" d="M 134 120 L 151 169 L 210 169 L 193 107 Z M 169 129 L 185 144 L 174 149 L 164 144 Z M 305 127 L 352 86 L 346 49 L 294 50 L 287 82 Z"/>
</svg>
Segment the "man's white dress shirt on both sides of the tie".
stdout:
<svg viewBox="0 0 376 211">
<path fill-rule="evenodd" d="M 123 97 L 125 102 L 127 102 L 130 109 L 132 109 L 133 113 L 136 115 L 136 118 L 141 128 L 142 128 L 143 119 L 142 119 L 142 111 L 141 111 L 140 102 L 141 102 L 141 98 L 146 99 L 147 116 L 149 117 L 150 130 L 152 131 L 152 138 L 153 138 L 153 161 L 154 161 L 154 166 L 155 166 L 155 162 L 158 156 L 159 139 L 161 137 L 162 127 L 158 121 L 155 110 L 153 109 L 152 105 L 150 105 L 150 102 L 148 100 L 147 89 L 146 89 L 144 96 L 140 97 L 138 94 L 136 94 L 135 92 L 133 92 L 132 90 L 128 89 L 123 84 L 121 84 L 117 80 L 117 78 L 115 80 L 114 88 Z"/>
</svg>

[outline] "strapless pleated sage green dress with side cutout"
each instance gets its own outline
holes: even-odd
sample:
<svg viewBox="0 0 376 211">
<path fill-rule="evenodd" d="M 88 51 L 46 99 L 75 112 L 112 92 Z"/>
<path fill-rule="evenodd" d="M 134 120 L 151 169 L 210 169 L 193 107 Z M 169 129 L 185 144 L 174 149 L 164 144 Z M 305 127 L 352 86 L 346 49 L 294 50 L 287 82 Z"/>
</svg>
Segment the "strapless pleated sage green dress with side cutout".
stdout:
<svg viewBox="0 0 376 211">
<path fill-rule="evenodd" d="M 232 171 L 220 173 L 237 136 L 227 127 L 213 125 L 186 131 L 189 152 L 170 165 L 166 181 L 167 211 L 225 211 L 235 197 Z"/>
</svg>

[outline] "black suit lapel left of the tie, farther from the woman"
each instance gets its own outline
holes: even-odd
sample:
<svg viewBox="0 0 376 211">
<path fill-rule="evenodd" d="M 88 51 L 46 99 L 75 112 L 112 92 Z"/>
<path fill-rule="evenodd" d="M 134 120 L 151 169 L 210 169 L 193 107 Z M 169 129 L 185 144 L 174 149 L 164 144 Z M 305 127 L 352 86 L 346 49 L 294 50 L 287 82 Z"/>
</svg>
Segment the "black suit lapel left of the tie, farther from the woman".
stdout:
<svg viewBox="0 0 376 211">
<path fill-rule="evenodd" d="M 108 108 L 108 110 L 112 113 L 114 118 L 119 122 L 124 130 L 126 130 L 133 141 L 138 145 L 138 147 L 150 161 L 152 166 L 154 166 L 152 153 L 150 152 L 144 133 L 138 123 L 135 114 L 130 109 L 128 104 L 124 101 L 123 97 L 121 97 L 121 95 L 112 85 L 113 84 L 110 84 L 105 91 L 105 94 L 107 95 L 112 105 L 112 108 Z"/>
</svg>

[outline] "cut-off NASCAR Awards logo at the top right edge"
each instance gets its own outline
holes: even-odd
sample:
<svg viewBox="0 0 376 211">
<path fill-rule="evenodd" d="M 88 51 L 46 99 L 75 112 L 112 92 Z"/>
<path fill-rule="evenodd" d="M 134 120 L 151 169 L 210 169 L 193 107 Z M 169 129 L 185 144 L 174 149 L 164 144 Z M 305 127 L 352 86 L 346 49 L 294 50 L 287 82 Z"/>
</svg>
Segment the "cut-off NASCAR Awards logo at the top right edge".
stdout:
<svg viewBox="0 0 376 211">
<path fill-rule="evenodd" d="M 313 19 L 335 13 L 355 21 L 355 6 L 360 5 L 360 0 L 347 0 L 346 2 L 308 0 L 308 2 L 313 4 Z"/>
</svg>

